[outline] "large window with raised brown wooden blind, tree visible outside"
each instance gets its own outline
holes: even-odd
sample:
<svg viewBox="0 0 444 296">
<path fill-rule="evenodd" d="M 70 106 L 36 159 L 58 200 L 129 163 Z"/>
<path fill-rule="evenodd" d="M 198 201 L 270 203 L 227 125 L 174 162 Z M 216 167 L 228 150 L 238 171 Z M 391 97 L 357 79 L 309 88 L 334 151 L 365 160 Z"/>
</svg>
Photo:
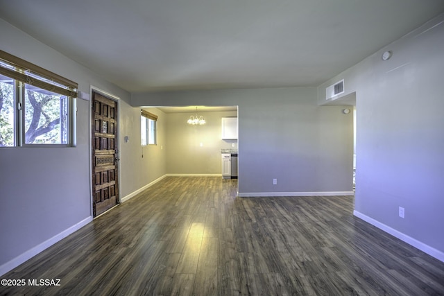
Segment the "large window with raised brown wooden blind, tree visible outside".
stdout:
<svg viewBox="0 0 444 296">
<path fill-rule="evenodd" d="M 0 147 L 74 143 L 77 84 L 0 51 Z"/>
</svg>

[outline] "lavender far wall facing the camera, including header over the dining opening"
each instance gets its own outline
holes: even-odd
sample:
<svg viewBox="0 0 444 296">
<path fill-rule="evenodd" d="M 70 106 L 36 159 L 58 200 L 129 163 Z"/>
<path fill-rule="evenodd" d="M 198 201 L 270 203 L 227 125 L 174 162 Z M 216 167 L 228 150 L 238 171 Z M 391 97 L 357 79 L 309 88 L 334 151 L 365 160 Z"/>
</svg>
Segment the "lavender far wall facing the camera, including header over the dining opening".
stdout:
<svg viewBox="0 0 444 296">
<path fill-rule="evenodd" d="M 316 96 L 314 87 L 232 89 L 133 94 L 131 104 L 239 106 L 241 196 L 352 194 L 352 113 Z"/>
</svg>

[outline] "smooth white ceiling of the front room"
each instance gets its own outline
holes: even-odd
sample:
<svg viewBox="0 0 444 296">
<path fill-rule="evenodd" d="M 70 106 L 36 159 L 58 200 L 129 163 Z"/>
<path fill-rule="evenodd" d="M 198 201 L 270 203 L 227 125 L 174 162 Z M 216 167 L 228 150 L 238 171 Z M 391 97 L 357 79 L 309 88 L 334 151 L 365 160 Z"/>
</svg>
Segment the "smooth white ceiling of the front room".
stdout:
<svg viewBox="0 0 444 296">
<path fill-rule="evenodd" d="M 0 0 L 2 19 L 128 92 L 317 86 L 441 12 L 442 0 Z"/>
</svg>

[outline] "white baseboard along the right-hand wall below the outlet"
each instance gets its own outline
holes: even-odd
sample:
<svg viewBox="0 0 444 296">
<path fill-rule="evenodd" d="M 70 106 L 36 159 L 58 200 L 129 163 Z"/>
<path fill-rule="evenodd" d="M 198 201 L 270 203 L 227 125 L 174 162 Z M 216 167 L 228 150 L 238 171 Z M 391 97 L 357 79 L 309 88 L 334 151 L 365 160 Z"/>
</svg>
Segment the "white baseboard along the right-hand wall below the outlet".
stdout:
<svg viewBox="0 0 444 296">
<path fill-rule="evenodd" d="M 421 250 L 422 252 L 425 252 L 426 254 L 429 254 L 430 256 L 438 259 L 439 261 L 444 262 L 444 252 L 436 250 L 434 247 L 430 247 L 429 245 L 426 245 L 425 243 L 422 243 L 416 240 L 415 238 L 408 236 L 407 234 L 403 234 L 402 232 L 399 232 L 396 229 L 393 229 L 383 223 L 380 223 L 379 221 L 370 218 L 359 211 L 356 210 L 353 211 L 353 215 L 383 230 L 384 232 L 387 232 L 388 234 L 395 236 L 395 238 L 399 238 L 401 241 L 404 241 L 405 243 L 408 243 L 409 245 L 416 247 L 417 249 Z"/>
</svg>

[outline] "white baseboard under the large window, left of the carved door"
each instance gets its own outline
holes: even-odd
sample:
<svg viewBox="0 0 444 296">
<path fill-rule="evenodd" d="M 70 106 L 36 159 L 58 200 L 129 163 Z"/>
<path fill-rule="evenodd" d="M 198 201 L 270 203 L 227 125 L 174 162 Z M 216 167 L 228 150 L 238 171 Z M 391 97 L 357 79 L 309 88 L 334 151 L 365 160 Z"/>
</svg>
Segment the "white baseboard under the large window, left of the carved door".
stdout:
<svg viewBox="0 0 444 296">
<path fill-rule="evenodd" d="M 0 266 L 0 276 L 6 274 L 6 272 L 9 272 L 10 270 L 16 268 L 20 264 L 28 261 L 33 256 L 39 254 L 40 252 L 46 250 L 48 247 L 51 247 L 51 245 L 58 243 L 58 241 L 61 241 L 63 238 L 69 236 L 69 234 L 73 234 L 78 229 L 82 228 L 83 226 L 87 225 L 92 221 L 92 217 L 85 218 L 81 220 L 76 225 L 73 225 L 69 227 L 68 229 L 65 229 L 64 231 L 60 232 L 60 234 L 56 234 L 52 238 L 49 238 L 49 240 L 44 241 L 40 245 L 37 245 L 33 247 L 32 249 L 24 252 L 23 254 L 20 254 L 19 256 L 15 257 L 11 261 L 8 261 Z"/>
</svg>

